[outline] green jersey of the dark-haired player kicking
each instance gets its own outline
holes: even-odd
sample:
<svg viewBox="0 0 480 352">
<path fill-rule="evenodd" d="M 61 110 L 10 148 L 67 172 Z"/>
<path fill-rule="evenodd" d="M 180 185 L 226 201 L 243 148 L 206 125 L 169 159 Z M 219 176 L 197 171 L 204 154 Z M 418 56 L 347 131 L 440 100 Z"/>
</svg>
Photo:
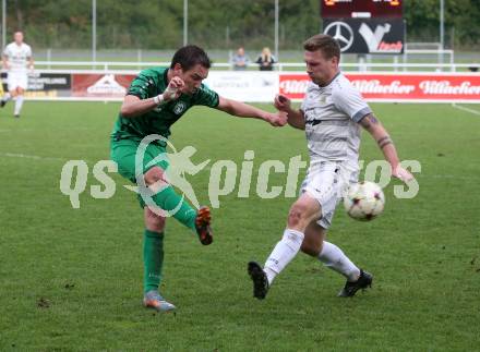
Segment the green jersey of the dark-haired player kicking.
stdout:
<svg viewBox="0 0 480 352">
<path fill-rule="evenodd" d="M 140 99 L 153 98 L 168 86 L 168 69 L 147 69 L 140 72 L 130 85 L 127 95 L 134 95 Z M 159 134 L 166 138 L 170 135 L 170 126 L 194 105 L 203 105 L 211 108 L 218 106 L 218 94 L 208 89 L 205 85 L 193 94 L 181 94 L 176 100 L 168 101 L 155 109 L 134 118 L 124 118 L 119 113 L 113 129 L 112 139 L 137 139 L 149 134 Z"/>
</svg>

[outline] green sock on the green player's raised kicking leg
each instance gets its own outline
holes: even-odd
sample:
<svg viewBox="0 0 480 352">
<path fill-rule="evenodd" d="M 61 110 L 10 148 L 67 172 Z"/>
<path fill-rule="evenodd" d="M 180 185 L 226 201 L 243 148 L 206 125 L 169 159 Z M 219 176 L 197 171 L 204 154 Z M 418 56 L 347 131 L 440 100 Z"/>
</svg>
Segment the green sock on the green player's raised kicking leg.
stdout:
<svg viewBox="0 0 480 352">
<path fill-rule="evenodd" d="M 195 231 L 196 210 L 187 203 L 185 198 L 182 201 L 182 197 L 175 192 L 171 185 L 155 194 L 153 199 L 155 204 L 164 210 L 172 210 L 181 202 L 180 208 L 173 214 L 173 218 Z"/>
</svg>

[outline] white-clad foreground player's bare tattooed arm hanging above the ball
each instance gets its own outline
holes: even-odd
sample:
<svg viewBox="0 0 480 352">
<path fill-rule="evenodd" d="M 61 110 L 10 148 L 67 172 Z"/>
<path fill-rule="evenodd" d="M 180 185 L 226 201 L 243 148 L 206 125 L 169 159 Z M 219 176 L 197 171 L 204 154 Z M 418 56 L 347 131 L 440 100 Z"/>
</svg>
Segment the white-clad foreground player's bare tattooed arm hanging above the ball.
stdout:
<svg viewBox="0 0 480 352">
<path fill-rule="evenodd" d="M 379 144 L 380 149 L 385 156 L 385 160 L 388 161 L 392 167 L 392 175 L 400 179 L 404 182 L 412 180 L 413 175 L 400 166 L 394 142 L 389 137 L 385 128 L 373 116 L 373 113 L 369 113 L 363 117 L 363 119 L 360 120 L 360 124 L 363 129 L 369 131 L 369 133 Z"/>
</svg>

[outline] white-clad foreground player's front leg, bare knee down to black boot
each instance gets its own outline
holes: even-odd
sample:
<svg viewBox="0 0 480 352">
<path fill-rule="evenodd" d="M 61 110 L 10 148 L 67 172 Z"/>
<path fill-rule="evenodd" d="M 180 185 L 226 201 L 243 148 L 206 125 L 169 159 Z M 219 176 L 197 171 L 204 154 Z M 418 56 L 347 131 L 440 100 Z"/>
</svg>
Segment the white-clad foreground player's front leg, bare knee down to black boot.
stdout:
<svg viewBox="0 0 480 352">
<path fill-rule="evenodd" d="M 285 269 L 299 252 L 307 227 L 310 222 L 317 220 L 320 216 L 319 202 L 308 193 L 303 193 L 293 203 L 288 214 L 284 235 L 272 251 L 264 268 L 262 269 L 255 262 L 249 263 L 248 270 L 253 281 L 253 295 L 255 298 L 259 300 L 265 298 L 275 277 Z"/>
</svg>

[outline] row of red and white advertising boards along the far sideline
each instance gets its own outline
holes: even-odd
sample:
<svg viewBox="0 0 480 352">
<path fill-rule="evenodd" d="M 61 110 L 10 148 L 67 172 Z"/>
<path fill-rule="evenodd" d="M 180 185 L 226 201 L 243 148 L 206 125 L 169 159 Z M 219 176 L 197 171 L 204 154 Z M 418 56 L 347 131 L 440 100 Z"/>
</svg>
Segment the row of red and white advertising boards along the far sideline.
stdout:
<svg viewBox="0 0 480 352">
<path fill-rule="evenodd" d="M 137 71 L 36 71 L 29 75 L 29 100 L 120 101 Z M 346 73 L 368 101 L 480 102 L 479 73 Z M 3 84 L 7 80 L 3 76 Z M 271 102 L 278 93 L 301 100 L 305 73 L 212 71 L 204 83 L 224 97 Z"/>
</svg>

